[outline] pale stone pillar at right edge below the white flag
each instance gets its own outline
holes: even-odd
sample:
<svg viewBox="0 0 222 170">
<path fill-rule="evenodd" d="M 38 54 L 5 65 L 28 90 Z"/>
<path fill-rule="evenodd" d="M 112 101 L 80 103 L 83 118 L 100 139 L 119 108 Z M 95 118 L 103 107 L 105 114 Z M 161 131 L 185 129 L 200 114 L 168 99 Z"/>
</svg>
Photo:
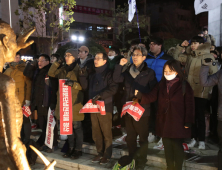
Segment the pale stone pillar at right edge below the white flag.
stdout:
<svg viewBox="0 0 222 170">
<path fill-rule="evenodd" d="M 208 33 L 216 39 L 216 46 L 222 46 L 222 4 L 208 12 Z"/>
</svg>

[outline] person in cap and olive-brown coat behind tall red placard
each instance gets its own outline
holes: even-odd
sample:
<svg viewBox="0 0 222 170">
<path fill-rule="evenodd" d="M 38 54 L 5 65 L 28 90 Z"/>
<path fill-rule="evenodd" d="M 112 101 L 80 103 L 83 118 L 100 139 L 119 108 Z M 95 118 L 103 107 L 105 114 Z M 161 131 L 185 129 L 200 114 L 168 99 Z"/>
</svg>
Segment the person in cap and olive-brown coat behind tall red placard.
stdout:
<svg viewBox="0 0 222 170">
<path fill-rule="evenodd" d="M 64 57 L 60 57 L 49 69 L 49 76 L 59 79 L 67 79 L 65 85 L 72 89 L 72 114 L 73 114 L 73 134 L 68 135 L 69 150 L 63 155 L 64 158 L 78 159 L 82 156 L 83 130 L 82 122 L 84 114 L 79 113 L 83 107 L 83 91 L 79 84 L 78 72 L 79 65 L 77 49 L 68 49 Z M 62 63 L 64 66 L 60 67 Z M 55 110 L 57 119 L 60 119 L 60 96 L 57 92 L 57 105 Z"/>
</svg>

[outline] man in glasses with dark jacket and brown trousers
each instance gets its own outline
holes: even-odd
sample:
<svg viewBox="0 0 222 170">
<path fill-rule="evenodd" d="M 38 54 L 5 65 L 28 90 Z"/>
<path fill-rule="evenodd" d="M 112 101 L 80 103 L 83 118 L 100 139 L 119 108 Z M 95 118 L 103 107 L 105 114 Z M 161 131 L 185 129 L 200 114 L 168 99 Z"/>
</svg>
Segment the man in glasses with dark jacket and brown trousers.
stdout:
<svg viewBox="0 0 222 170">
<path fill-rule="evenodd" d="M 112 111 L 113 95 L 118 85 L 113 82 L 112 72 L 107 65 L 108 56 L 97 53 L 94 58 L 95 71 L 87 75 L 86 69 L 80 70 L 79 80 L 83 90 L 89 89 L 89 98 L 95 104 L 97 100 L 105 103 L 106 115 L 91 113 L 93 140 L 98 155 L 92 162 L 106 164 L 112 156 Z"/>
</svg>

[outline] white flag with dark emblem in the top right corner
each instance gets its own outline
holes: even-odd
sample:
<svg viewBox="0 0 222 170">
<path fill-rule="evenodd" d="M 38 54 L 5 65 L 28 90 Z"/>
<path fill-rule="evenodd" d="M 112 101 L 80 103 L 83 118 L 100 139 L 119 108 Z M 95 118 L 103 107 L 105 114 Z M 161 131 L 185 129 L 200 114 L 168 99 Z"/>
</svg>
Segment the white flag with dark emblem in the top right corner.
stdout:
<svg viewBox="0 0 222 170">
<path fill-rule="evenodd" d="M 194 9 L 195 14 L 199 14 L 201 12 L 210 11 L 212 9 L 217 8 L 222 3 L 222 0 L 195 0 L 194 1 Z"/>
</svg>

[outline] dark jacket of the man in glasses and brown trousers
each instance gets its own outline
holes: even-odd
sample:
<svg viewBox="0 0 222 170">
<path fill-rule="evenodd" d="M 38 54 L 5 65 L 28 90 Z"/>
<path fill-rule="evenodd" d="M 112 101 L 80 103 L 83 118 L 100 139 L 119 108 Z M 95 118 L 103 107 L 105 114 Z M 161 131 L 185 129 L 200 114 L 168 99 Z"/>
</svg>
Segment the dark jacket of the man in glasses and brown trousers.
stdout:
<svg viewBox="0 0 222 170">
<path fill-rule="evenodd" d="M 114 83 L 112 72 L 108 65 L 95 68 L 95 71 L 86 76 L 79 76 L 80 84 L 83 90 L 89 91 L 89 99 L 100 95 L 105 102 L 106 112 L 113 112 L 113 96 L 116 94 L 118 85 Z"/>
</svg>

